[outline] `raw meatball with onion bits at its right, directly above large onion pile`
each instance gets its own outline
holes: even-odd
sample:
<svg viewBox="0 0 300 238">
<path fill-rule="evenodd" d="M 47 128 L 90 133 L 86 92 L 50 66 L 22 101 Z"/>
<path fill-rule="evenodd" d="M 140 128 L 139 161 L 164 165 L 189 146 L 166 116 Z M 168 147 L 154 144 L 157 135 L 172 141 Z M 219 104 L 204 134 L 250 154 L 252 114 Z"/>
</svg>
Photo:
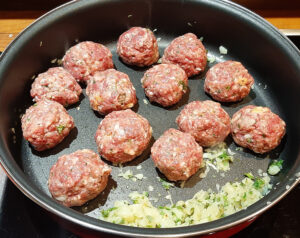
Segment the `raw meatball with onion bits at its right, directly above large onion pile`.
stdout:
<svg viewBox="0 0 300 238">
<path fill-rule="evenodd" d="M 202 147 L 188 133 L 169 129 L 151 148 L 155 166 L 171 181 L 187 180 L 202 164 Z"/>
</svg>

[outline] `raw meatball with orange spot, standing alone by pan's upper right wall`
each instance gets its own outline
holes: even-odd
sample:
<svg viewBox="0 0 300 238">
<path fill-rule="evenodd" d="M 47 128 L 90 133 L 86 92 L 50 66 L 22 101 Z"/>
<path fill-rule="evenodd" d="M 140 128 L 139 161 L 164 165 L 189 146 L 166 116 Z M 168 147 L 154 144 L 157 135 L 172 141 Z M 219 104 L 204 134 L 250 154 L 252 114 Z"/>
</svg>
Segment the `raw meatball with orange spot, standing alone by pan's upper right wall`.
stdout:
<svg viewBox="0 0 300 238">
<path fill-rule="evenodd" d="M 254 83 L 248 70 L 236 61 L 225 61 L 211 67 L 204 83 L 204 90 L 221 102 L 236 102 L 246 97 Z"/>
</svg>

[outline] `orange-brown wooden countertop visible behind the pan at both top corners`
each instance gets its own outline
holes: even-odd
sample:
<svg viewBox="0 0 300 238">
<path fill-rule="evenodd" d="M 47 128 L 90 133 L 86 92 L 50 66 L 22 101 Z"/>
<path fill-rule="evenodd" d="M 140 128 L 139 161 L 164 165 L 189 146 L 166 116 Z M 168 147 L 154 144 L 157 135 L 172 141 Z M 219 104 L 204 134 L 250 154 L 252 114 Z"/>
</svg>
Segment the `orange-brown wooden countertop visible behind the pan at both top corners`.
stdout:
<svg viewBox="0 0 300 238">
<path fill-rule="evenodd" d="M 285 34 L 300 35 L 300 10 L 257 10 L 260 16 Z M 0 51 L 43 11 L 0 11 Z"/>
</svg>

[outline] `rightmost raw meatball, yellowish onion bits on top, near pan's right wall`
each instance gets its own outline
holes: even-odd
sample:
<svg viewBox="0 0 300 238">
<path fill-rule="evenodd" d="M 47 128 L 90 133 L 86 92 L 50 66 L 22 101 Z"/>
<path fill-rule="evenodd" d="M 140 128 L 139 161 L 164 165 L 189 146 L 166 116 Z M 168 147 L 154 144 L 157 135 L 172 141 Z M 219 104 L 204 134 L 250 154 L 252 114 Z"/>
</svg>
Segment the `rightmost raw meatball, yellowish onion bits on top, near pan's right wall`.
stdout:
<svg viewBox="0 0 300 238">
<path fill-rule="evenodd" d="M 233 115 L 231 134 L 240 146 L 263 154 L 280 144 L 285 122 L 267 107 L 249 105 Z"/>
</svg>

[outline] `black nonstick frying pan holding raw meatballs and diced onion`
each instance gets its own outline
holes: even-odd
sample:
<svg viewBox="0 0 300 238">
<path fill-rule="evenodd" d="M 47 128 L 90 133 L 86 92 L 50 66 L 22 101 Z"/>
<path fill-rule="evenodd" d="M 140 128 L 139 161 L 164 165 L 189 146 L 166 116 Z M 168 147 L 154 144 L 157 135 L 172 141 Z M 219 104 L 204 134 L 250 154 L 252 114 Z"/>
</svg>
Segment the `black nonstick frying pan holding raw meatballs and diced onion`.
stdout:
<svg viewBox="0 0 300 238">
<path fill-rule="evenodd" d="M 248 97 L 238 103 L 222 104 L 232 115 L 248 104 L 268 106 L 287 124 L 287 134 L 282 143 L 267 155 L 257 155 L 248 150 L 237 152 L 238 159 L 225 177 L 210 171 L 206 178 L 193 176 L 180 188 L 170 190 L 173 202 L 191 198 L 200 189 L 224 185 L 227 181 L 241 180 L 246 172 L 257 175 L 258 169 L 267 170 L 271 159 L 281 158 L 284 166 L 278 176 L 272 177 L 271 192 L 246 210 L 231 216 L 194 226 L 148 229 L 133 228 L 104 222 L 98 219 L 99 211 L 111 207 L 115 200 L 128 199 L 133 190 L 155 190 L 150 197 L 161 194 L 156 206 L 169 201 L 157 177 L 163 177 L 150 159 L 149 148 L 137 159 L 124 165 L 123 171 L 143 173 L 147 179 L 133 182 L 118 177 L 120 168 L 113 167 L 108 187 L 100 196 L 79 208 L 66 208 L 56 203 L 47 189 L 50 167 L 62 154 L 77 149 L 97 150 L 94 133 L 103 117 L 94 113 L 84 94 L 76 105 L 68 108 L 76 128 L 55 148 L 34 151 L 22 138 L 20 114 L 32 105 L 29 90 L 32 77 L 53 67 L 51 61 L 61 58 L 65 51 L 78 41 L 92 40 L 105 44 L 113 52 L 115 68 L 129 75 L 139 99 L 134 111 L 146 117 L 153 127 L 153 139 L 163 131 L 175 127 L 175 118 L 183 106 L 194 100 L 210 99 L 203 91 L 205 72 L 189 79 L 189 91 L 173 107 L 162 108 L 144 103 L 146 99 L 140 79 L 146 68 L 125 65 L 116 55 L 118 36 L 132 26 L 157 29 L 159 49 L 175 37 L 193 32 L 204 37 L 203 43 L 217 62 L 241 61 L 255 78 L 255 85 Z M 228 49 L 221 56 L 220 45 Z M 221 0 L 85 0 L 73 1 L 45 14 L 24 30 L 3 52 L 0 63 L 0 157 L 8 177 L 30 199 L 91 234 L 107 232 L 136 237 L 181 237 L 209 234 L 251 220 L 285 196 L 299 181 L 300 172 L 300 54 L 296 47 L 278 30 L 249 10 Z M 209 64 L 207 69 L 213 64 Z M 84 86 L 83 86 L 84 87 Z M 85 90 L 84 90 L 85 91 Z M 14 128 L 13 130 L 11 128 Z M 230 137 L 227 144 L 235 150 Z M 142 170 L 137 170 L 142 165 Z M 138 171 L 138 172 L 137 172 Z"/>
</svg>

